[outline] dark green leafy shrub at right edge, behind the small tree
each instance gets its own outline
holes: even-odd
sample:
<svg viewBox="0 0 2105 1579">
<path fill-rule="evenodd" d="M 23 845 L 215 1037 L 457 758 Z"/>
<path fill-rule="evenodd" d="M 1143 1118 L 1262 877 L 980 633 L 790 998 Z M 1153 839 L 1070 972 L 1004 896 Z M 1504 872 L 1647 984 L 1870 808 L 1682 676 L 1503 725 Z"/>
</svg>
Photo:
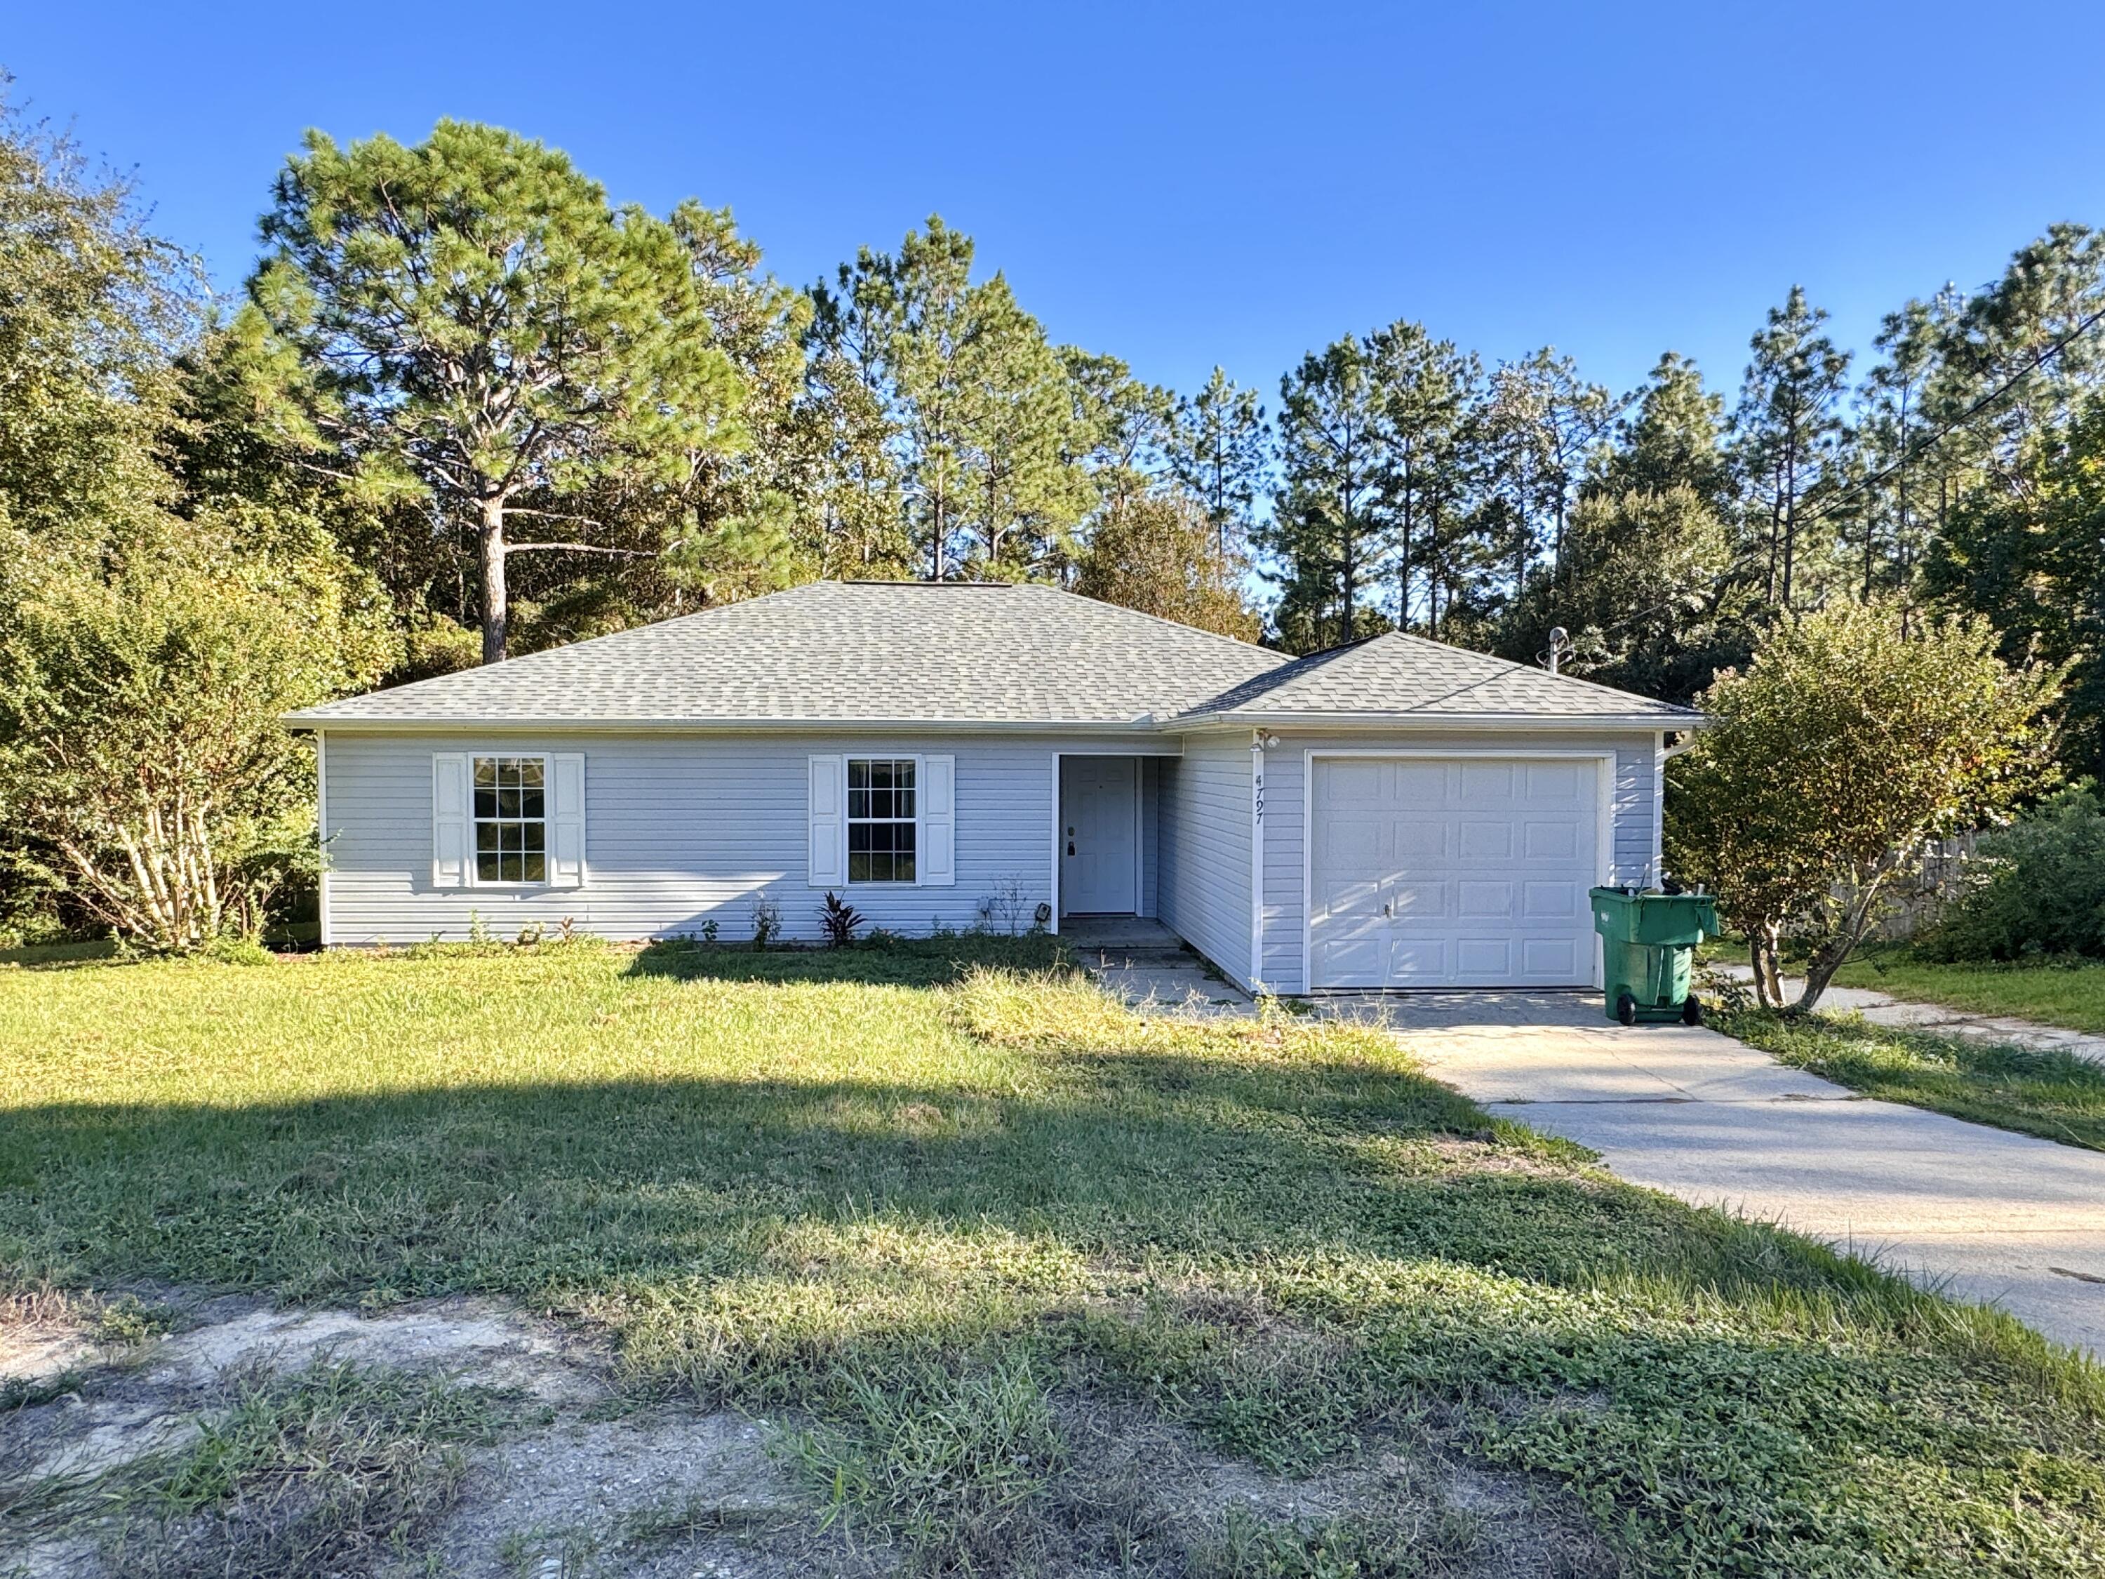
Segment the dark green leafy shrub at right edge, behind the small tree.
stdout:
<svg viewBox="0 0 2105 1579">
<path fill-rule="evenodd" d="M 2105 800 L 2063 790 L 1981 840 L 1974 880 L 1916 939 L 1932 960 L 2105 958 Z"/>
</svg>

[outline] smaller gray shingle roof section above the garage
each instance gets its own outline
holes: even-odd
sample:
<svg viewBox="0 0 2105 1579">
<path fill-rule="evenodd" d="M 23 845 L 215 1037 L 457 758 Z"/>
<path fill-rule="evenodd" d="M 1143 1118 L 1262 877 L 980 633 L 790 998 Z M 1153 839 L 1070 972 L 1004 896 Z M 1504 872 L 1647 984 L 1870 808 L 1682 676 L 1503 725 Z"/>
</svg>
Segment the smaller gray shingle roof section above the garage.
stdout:
<svg viewBox="0 0 2105 1579">
<path fill-rule="evenodd" d="M 1303 718 L 1636 720 L 1655 728 L 1688 728 L 1701 718 L 1690 707 L 1398 632 L 1282 663 L 1194 707 L 1191 716 L 1250 724 Z"/>
</svg>

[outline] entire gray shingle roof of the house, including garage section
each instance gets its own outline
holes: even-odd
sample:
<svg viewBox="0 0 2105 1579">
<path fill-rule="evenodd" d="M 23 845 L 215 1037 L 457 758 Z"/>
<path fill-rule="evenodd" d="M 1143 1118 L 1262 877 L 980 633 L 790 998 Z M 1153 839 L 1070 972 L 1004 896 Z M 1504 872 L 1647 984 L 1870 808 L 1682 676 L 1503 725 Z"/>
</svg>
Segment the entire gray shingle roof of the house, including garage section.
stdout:
<svg viewBox="0 0 2105 1579">
<path fill-rule="evenodd" d="M 1036 585 L 817 581 L 293 714 L 432 724 L 1099 724 L 1225 714 L 1661 716 L 1680 707 L 1408 636 L 1290 661 Z"/>
</svg>

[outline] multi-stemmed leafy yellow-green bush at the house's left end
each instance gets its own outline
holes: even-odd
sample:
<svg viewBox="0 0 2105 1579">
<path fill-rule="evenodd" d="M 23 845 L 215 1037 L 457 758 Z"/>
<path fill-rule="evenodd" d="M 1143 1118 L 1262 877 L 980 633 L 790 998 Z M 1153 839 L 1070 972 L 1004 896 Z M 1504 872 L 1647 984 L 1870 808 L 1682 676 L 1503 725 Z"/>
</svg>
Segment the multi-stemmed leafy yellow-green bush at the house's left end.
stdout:
<svg viewBox="0 0 2105 1579">
<path fill-rule="evenodd" d="M 387 653 L 326 549 L 139 539 L 103 577 L 17 579 L 0 627 L 0 823 L 101 924 L 160 950 L 255 935 L 312 863 L 312 752 L 280 714 Z"/>
</svg>

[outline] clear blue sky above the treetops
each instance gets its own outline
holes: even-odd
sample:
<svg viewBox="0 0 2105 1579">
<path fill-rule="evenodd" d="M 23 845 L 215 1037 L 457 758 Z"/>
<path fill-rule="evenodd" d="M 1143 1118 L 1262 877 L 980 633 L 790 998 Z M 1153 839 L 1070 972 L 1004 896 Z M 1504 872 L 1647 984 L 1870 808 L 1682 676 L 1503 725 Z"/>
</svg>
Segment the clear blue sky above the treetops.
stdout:
<svg viewBox="0 0 2105 1579">
<path fill-rule="evenodd" d="M 1048 331 L 1267 400 L 1419 318 L 1627 387 L 1732 387 L 1804 282 L 1836 333 L 2105 223 L 2094 4 L 743 4 L 0 11 L 17 99 L 135 168 L 242 278 L 305 126 L 438 116 L 568 149 L 617 200 L 730 204 L 806 284 L 930 211 Z"/>
</svg>

